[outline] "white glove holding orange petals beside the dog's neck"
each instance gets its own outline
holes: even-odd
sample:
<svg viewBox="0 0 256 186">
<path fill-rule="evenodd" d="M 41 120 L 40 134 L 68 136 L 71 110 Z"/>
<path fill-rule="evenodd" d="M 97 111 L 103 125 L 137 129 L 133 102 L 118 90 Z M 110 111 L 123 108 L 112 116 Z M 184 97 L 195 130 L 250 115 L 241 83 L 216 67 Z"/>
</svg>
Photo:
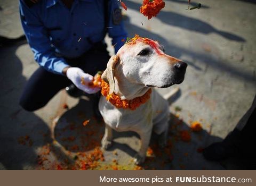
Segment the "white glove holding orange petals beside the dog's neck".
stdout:
<svg viewBox="0 0 256 186">
<path fill-rule="evenodd" d="M 88 83 L 93 81 L 93 76 L 84 73 L 84 71 L 78 67 L 69 67 L 67 70 L 67 77 L 75 84 L 77 88 L 83 90 L 87 94 L 94 94 L 100 90 L 98 87 L 89 87 Z"/>
</svg>

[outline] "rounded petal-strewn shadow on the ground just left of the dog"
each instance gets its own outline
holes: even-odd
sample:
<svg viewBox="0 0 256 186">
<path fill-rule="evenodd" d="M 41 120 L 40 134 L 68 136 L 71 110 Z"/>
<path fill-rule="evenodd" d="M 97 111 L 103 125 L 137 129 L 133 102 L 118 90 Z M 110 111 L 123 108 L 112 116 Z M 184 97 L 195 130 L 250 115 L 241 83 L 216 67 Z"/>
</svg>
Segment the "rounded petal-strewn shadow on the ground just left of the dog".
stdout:
<svg viewBox="0 0 256 186">
<path fill-rule="evenodd" d="M 85 152 L 100 146 L 103 137 L 103 121 L 93 116 L 92 103 L 80 99 L 79 103 L 65 112 L 55 126 L 54 136 L 61 146 L 73 153 Z M 90 120 L 85 126 L 83 123 Z"/>
</svg>

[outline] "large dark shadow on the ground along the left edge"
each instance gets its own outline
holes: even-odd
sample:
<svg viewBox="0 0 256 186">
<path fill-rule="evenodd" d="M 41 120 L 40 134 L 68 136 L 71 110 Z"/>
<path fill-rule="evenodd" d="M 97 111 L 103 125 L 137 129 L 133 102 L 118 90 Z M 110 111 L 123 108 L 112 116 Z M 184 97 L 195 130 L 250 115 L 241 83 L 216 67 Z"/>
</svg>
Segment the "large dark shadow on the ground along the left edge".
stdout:
<svg viewBox="0 0 256 186">
<path fill-rule="evenodd" d="M 0 37 L 0 169 L 37 169 L 42 163 L 44 149 L 49 149 L 49 154 L 52 151 L 52 156 L 67 158 L 51 146 L 49 126 L 35 113 L 26 112 L 19 106 L 26 78 L 16 53 L 25 43 L 24 36 L 17 39 Z"/>
</svg>

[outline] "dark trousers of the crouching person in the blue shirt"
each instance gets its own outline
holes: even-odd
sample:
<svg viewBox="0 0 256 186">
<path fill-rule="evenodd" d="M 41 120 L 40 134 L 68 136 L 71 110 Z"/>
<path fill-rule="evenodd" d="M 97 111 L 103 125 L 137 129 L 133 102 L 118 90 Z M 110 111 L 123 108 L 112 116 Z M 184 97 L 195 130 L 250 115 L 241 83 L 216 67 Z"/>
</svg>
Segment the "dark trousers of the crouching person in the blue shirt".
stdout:
<svg viewBox="0 0 256 186">
<path fill-rule="evenodd" d="M 85 73 L 94 75 L 106 69 L 109 58 L 106 45 L 97 43 L 81 57 L 66 61 L 70 66 L 79 67 Z M 28 80 L 20 98 L 20 105 L 26 111 L 35 111 L 45 106 L 55 94 L 71 83 L 65 76 L 39 67 Z"/>
</svg>

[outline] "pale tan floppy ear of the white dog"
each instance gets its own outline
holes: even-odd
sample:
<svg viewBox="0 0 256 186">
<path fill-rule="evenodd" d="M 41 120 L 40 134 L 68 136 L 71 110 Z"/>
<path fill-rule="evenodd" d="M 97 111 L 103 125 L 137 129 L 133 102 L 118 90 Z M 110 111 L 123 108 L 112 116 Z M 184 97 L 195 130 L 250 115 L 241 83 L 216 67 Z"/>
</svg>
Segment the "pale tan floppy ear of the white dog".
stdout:
<svg viewBox="0 0 256 186">
<path fill-rule="evenodd" d="M 109 94 L 115 90 L 115 66 L 119 62 L 119 56 L 112 56 L 107 64 L 107 69 L 102 73 L 101 78 L 109 84 Z"/>
</svg>

